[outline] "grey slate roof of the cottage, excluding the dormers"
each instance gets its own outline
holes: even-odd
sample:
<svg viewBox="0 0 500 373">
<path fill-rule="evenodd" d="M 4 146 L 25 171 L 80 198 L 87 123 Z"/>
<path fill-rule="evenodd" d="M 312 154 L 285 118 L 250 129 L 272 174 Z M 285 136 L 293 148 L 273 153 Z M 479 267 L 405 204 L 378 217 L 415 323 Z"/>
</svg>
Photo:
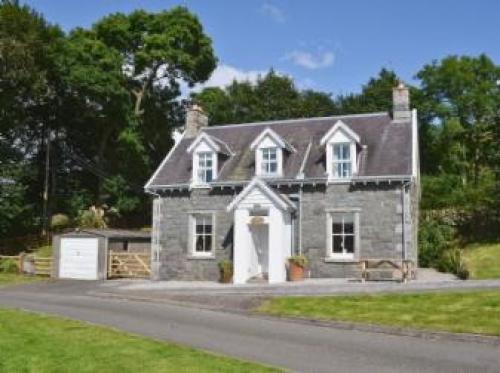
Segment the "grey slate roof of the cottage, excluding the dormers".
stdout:
<svg viewBox="0 0 500 373">
<path fill-rule="evenodd" d="M 320 140 L 338 120 L 360 137 L 359 177 L 411 174 L 411 122 L 394 123 L 388 113 L 373 113 L 203 128 L 202 131 L 223 141 L 233 152 L 231 156 L 221 156 L 219 159 L 216 182 L 242 182 L 253 178 L 255 156 L 250 144 L 267 127 L 296 149 L 296 152 L 285 151 L 283 179 L 297 178 L 306 155 L 304 179 L 325 179 L 326 152 Z M 167 161 L 157 170 L 148 188 L 190 183 L 192 162 L 186 149 L 194 140 L 181 139 Z M 311 149 L 307 154 L 309 143 Z"/>
</svg>

